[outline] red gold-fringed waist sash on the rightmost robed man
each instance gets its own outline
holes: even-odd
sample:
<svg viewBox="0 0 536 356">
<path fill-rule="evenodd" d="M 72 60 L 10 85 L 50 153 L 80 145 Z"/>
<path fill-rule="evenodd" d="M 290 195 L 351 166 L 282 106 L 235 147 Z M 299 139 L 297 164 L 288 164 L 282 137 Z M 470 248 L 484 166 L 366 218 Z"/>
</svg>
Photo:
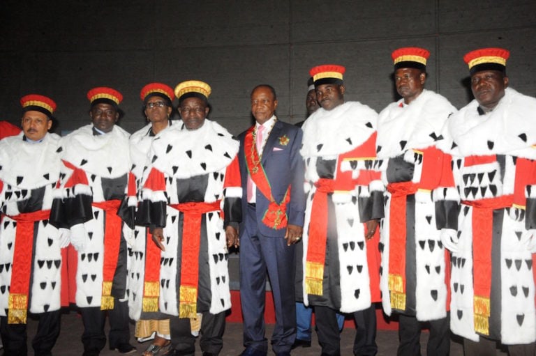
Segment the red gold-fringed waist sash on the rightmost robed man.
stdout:
<svg viewBox="0 0 536 356">
<path fill-rule="evenodd" d="M 489 335 L 491 305 L 491 246 L 493 243 L 493 210 L 512 206 L 514 195 L 503 195 L 477 201 L 461 201 L 472 206 L 472 275 L 475 331 Z"/>
</svg>

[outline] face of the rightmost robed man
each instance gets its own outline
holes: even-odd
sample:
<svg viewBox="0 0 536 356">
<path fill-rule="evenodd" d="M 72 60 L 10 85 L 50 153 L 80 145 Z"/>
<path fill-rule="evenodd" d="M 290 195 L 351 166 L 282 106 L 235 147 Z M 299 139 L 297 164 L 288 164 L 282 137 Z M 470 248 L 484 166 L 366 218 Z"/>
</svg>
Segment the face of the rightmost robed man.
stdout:
<svg viewBox="0 0 536 356">
<path fill-rule="evenodd" d="M 481 70 L 471 75 L 471 91 L 478 104 L 493 109 L 505 96 L 508 77 L 498 70 Z"/>
</svg>

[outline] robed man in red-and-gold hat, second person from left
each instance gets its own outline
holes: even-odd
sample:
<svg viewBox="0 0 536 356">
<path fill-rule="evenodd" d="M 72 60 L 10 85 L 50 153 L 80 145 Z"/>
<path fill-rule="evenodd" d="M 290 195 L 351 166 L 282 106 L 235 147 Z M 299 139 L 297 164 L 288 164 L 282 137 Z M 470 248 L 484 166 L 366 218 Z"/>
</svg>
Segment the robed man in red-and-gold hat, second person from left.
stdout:
<svg viewBox="0 0 536 356">
<path fill-rule="evenodd" d="M 70 228 L 68 256 L 70 302 L 82 314 L 84 356 L 104 348 L 106 313 L 110 317 L 109 346 L 121 354 L 135 353 L 129 343 L 126 298 L 126 240 L 121 222 L 126 206 L 131 160 L 128 132 L 117 126 L 123 96 L 107 88 L 87 93 L 91 124 L 61 139 L 60 185 L 50 222 Z"/>
</svg>

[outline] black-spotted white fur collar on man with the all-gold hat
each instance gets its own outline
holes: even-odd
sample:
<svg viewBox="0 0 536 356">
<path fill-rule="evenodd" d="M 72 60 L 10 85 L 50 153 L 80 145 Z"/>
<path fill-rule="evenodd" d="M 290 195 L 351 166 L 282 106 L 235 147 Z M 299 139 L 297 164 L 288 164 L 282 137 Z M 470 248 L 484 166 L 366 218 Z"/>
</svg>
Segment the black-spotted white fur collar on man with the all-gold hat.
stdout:
<svg viewBox="0 0 536 356">
<path fill-rule="evenodd" d="M 239 142 L 215 121 L 206 119 L 193 131 L 180 126 L 163 131 L 151 146 L 150 163 L 166 175 L 190 178 L 221 171 L 236 157 Z"/>
</svg>

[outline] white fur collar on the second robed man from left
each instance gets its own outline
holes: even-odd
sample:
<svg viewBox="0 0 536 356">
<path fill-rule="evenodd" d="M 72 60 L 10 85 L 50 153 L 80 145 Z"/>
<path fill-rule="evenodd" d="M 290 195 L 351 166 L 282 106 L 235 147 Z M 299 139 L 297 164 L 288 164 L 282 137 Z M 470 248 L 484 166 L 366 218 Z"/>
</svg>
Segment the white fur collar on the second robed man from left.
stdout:
<svg viewBox="0 0 536 356">
<path fill-rule="evenodd" d="M 94 136 L 93 125 L 85 125 L 61 139 L 62 158 L 97 176 L 117 178 L 131 169 L 128 136 L 117 125 L 107 134 Z"/>
</svg>

